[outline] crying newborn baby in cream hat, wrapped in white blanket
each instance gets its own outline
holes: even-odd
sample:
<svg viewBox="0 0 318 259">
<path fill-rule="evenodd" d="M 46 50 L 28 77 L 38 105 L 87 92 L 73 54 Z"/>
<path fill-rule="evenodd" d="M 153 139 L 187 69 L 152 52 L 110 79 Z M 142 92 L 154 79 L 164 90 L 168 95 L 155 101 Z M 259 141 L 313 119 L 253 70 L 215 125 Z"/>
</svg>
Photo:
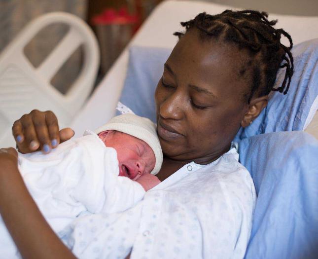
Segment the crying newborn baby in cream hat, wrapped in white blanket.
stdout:
<svg viewBox="0 0 318 259">
<path fill-rule="evenodd" d="M 19 153 L 18 166 L 43 216 L 61 236 L 79 215 L 121 212 L 139 202 L 160 183 L 154 175 L 162 159 L 155 124 L 123 114 L 49 154 Z M 0 250 L 11 246 L 16 251 L 0 225 Z"/>
</svg>

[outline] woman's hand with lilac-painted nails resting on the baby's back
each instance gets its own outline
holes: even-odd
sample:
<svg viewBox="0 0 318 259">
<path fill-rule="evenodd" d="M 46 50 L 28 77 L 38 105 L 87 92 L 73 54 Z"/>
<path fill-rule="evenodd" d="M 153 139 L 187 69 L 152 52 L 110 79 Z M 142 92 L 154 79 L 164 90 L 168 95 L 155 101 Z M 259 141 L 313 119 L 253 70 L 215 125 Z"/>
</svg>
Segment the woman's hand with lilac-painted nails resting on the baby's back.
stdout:
<svg viewBox="0 0 318 259">
<path fill-rule="evenodd" d="M 59 130 L 59 124 L 52 111 L 33 110 L 16 120 L 12 134 L 21 153 L 42 150 L 48 153 L 60 143 L 71 139 L 74 131 L 71 128 Z"/>
</svg>

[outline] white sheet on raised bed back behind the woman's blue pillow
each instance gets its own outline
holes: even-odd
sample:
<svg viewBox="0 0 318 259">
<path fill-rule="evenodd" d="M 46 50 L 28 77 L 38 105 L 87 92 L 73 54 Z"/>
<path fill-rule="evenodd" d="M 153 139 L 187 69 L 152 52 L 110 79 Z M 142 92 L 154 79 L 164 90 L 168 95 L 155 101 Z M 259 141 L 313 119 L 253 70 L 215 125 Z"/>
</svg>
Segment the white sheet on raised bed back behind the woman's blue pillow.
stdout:
<svg viewBox="0 0 318 259">
<path fill-rule="evenodd" d="M 128 49 L 130 46 L 173 48 L 177 42 L 177 37 L 173 36 L 173 33 L 182 29 L 179 25 L 180 21 L 194 18 L 202 11 L 215 14 L 225 9 L 238 8 L 200 1 L 167 0 L 159 4 L 119 56 L 86 105 L 74 118 L 71 127 L 75 130 L 75 136 L 81 136 L 87 128 L 95 129 L 99 127 L 114 116 L 127 72 Z M 313 32 L 317 31 L 318 28 L 318 16 L 270 14 L 269 19 L 278 19 L 279 22 L 276 27 L 283 28 L 288 32 L 294 44 L 317 37 L 317 34 L 313 34 Z M 287 44 L 287 42 L 287 39 L 283 38 L 283 43 Z M 313 109 L 308 116 L 314 118 L 311 123 L 308 123 L 310 129 L 312 129 L 312 123 L 318 124 L 318 116 L 314 116 L 316 111 Z M 313 134 L 313 132 L 310 133 Z M 314 130 L 314 134 L 318 139 L 318 131 L 315 132 Z"/>
</svg>

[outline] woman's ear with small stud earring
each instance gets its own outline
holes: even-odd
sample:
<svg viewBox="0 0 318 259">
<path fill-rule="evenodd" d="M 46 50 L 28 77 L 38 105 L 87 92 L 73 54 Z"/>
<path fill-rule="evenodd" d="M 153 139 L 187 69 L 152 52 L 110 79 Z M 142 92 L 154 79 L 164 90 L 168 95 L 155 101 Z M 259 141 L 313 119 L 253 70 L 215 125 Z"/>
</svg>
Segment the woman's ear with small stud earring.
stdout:
<svg viewBox="0 0 318 259">
<path fill-rule="evenodd" d="M 241 121 L 241 126 L 245 128 L 251 124 L 253 120 L 257 118 L 259 113 L 261 113 L 261 111 L 267 106 L 267 104 L 268 95 L 253 98 L 249 103 L 247 113 L 245 113 Z"/>
</svg>

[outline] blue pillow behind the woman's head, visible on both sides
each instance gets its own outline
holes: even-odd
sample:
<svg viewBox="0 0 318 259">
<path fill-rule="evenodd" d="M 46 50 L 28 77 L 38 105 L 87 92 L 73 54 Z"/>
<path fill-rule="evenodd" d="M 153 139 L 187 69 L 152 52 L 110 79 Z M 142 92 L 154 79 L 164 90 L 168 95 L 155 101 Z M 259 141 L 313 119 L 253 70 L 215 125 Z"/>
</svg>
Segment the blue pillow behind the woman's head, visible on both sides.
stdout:
<svg viewBox="0 0 318 259">
<path fill-rule="evenodd" d="M 128 72 L 120 102 L 154 122 L 154 91 L 170 53 L 171 49 L 166 48 L 130 48 Z M 250 126 L 240 129 L 236 141 L 274 131 L 303 130 L 310 108 L 318 96 L 318 38 L 294 46 L 292 53 L 295 72 L 288 93 L 271 92 L 267 108 Z M 284 70 L 281 70 L 275 88 L 282 84 L 283 77 Z"/>
</svg>

